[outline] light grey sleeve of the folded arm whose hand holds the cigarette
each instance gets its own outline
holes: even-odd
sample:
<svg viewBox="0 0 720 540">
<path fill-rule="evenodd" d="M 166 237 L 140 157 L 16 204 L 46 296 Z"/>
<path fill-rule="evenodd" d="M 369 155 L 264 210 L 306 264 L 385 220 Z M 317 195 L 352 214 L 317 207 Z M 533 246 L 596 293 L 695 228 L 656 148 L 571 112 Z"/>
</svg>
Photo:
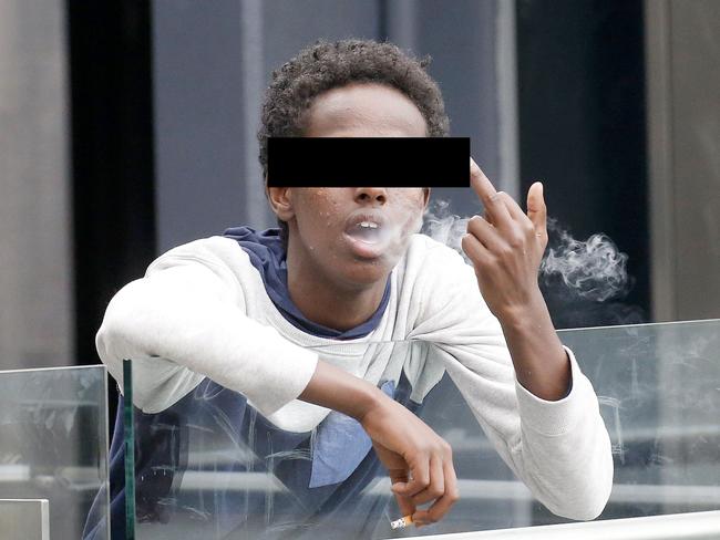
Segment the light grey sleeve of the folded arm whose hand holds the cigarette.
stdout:
<svg viewBox="0 0 720 540">
<path fill-rule="evenodd" d="M 133 360 L 135 405 L 169 407 L 207 376 L 244 394 L 265 416 L 297 398 L 315 373 L 317 353 L 248 318 L 228 267 L 224 239 L 197 240 L 155 260 L 145 277 L 110 301 L 95 338 L 97 353 L 121 384 Z M 225 248 L 227 249 L 227 248 Z"/>
</svg>

